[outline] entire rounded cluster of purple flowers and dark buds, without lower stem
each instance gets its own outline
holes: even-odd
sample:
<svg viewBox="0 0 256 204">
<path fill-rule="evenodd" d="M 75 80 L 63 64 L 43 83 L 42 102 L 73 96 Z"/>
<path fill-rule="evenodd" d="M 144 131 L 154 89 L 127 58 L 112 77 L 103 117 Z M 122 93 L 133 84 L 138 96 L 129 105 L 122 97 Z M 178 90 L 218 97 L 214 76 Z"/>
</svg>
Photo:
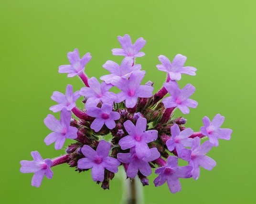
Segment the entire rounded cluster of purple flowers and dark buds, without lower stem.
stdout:
<svg viewBox="0 0 256 204">
<path fill-rule="evenodd" d="M 186 128 L 186 119 L 174 117 L 178 108 L 188 114 L 190 108 L 198 103 L 190 97 L 195 87 L 187 84 L 180 88 L 177 81 L 182 74 L 194 76 L 196 68 L 185 67 L 186 57 L 178 54 L 172 62 L 160 55 L 160 71 L 167 72 L 163 87 L 153 94 L 153 83 L 141 85 L 145 71 L 135 64 L 135 58 L 143 57 L 140 50 L 146 41 L 143 38 L 132 44 L 130 36 L 117 37 L 121 49 L 112 49 L 113 55 L 124 56 L 121 64 L 108 60 L 103 68 L 110 74 L 102 76 L 99 82 L 95 77 L 88 78 L 85 65 L 91 60 L 90 53 L 80 59 L 75 49 L 67 54 L 70 65 L 59 67 L 60 73 L 68 77 L 78 76 L 85 87 L 73 92 L 72 85 L 67 85 L 65 94 L 53 92 L 51 97 L 57 104 L 50 110 L 60 112 L 60 120 L 53 115 L 44 119 L 44 124 L 52 131 L 45 137 L 46 145 L 54 143 L 56 150 L 62 149 L 66 139 L 74 143 L 65 148 L 65 155 L 54 159 L 44 159 L 34 151 L 33 161 L 22 160 L 22 173 L 34 173 L 32 185 L 39 187 L 45 175 L 53 177 L 51 168 L 67 163 L 76 171 L 91 169 L 92 179 L 101 187 L 109 189 L 109 182 L 123 166 L 128 178 L 139 177 L 142 185 L 149 185 L 147 176 L 156 168 L 158 175 L 155 186 L 167 185 L 171 193 L 181 191 L 179 178 L 198 179 L 199 166 L 212 170 L 216 162 L 206 155 L 213 146 L 218 146 L 218 139 L 229 140 L 231 129 L 220 128 L 224 117 L 217 114 L 212 121 L 203 118 L 200 132 Z M 119 93 L 111 92 L 117 87 Z M 170 96 L 163 98 L 165 95 Z M 76 107 L 76 100 L 84 97 L 84 108 Z M 104 140 L 112 136 L 111 141 Z M 209 140 L 201 145 L 201 138 Z M 179 166 L 178 159 L 188 162 Z M 120 168 L 119 168 L 120 170 Z"/>
</svg>

